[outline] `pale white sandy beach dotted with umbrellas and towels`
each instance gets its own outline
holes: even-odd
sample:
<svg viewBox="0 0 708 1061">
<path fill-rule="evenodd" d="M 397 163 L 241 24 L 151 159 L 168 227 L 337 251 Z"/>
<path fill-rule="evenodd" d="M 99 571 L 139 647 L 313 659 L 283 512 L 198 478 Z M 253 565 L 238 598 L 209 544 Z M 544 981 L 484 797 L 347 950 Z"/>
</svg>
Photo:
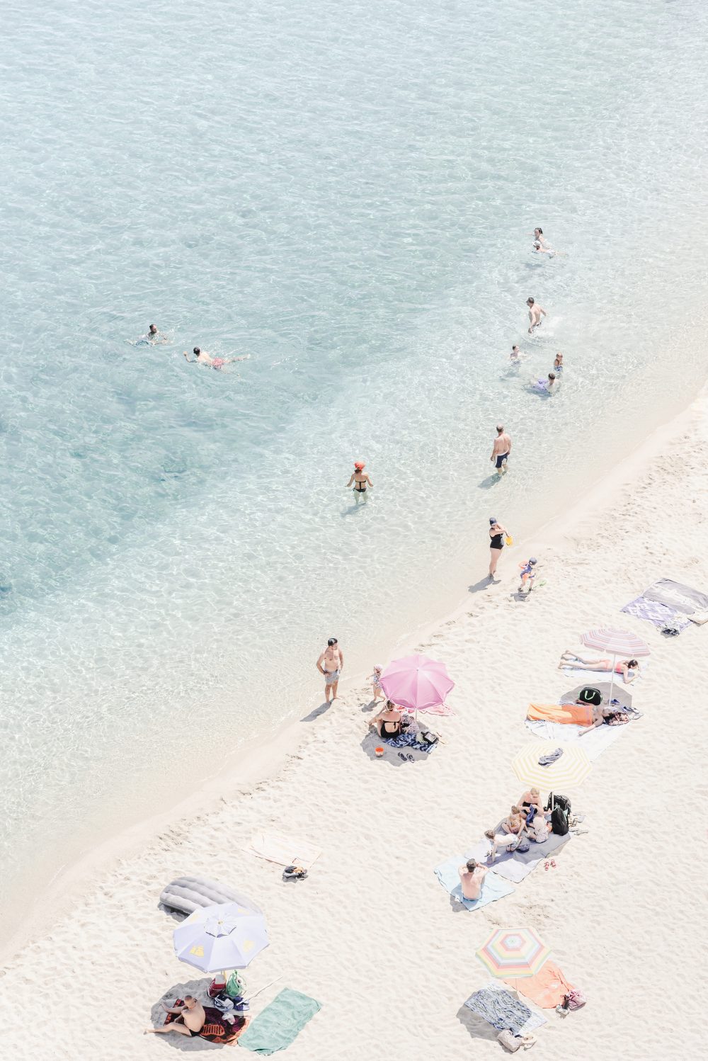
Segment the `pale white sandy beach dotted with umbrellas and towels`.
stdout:
<svg viewBox="0 0 708 1061">
<path fill-rule="evenodd" d="M 506 551 L 498 585 L 471 592 L 411 646 L 444 660 L 457 682 L 454 716 L 433 721 L 445 743 L 425 761 L 370 759 L 361 748 L 370 691 L 350 689 L 296 727 L 298 743 L 275 775 L 246 787 L 236 771 L 211 807 L 196 797 L 194 814 L 146 834 L 138 851 L 134 836 L 109 871 L 75 881 L 71 908 L 39 935 L 30 924 L 34 940 L 6 960 L 2 1058 L 148 1061 L 237 1049 L 142 1034 L 161 998 L 210 979 L 174 957 L 175 921 L 158 908 L 163 885 L 188 872 L 242 890 L 266 912 L 270 946 L 245 975 L 249 991 L 282 979 L 258 996 L 254 1014 L 282 987 L 322 1004 L 289 1047 L 291 1061 L 501 1058 L 496 1032 L 462 1004 L 490 978 L 475 951 L 492 928 L 513 925 L 535 928 L 588 998 L 565 1020 L 545 1011 L 532 1057 L 703 1057 L 688 996 L 704 964 L 706 836 L 695 811 L 708 626 L 663 639 L 619 609 L 660 577 L 708 589 L 707 412 L 704 393 L 585 504 Z M 517 563 L 530 553 L 546 585 L 519 603 Z M 461 577 L 477 584 L 483 574 Z M 555 856 L 556 868 L 542 864 L 513 894 L 464 910 L 433 867 L 472 847 L 517 799 L 524 786 L 510 763 L 530 740 L 527 705 L 576 684 L 556 669 L 560 653 L 602 625 L 634 630 L 652 656 L 632 686 L 643 717 L 595 761 L 573 798 L 588 832 Z M 319 692 L 314 680 L 303 716 Z M 242 850 L 264 830 L 322 849 L 307 881 L 285 884 L 278 866 Z"/>
</svg>

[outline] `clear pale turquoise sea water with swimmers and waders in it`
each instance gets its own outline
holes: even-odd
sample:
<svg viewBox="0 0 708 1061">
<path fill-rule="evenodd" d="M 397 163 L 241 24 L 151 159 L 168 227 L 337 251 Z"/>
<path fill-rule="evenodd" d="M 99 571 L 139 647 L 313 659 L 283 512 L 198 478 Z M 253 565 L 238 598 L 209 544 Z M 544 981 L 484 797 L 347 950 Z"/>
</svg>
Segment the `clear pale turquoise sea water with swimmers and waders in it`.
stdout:
<svg viewBox="0 0 708 1061">
<path fill-rule="evenodd" d="M 4 31 L 7 912 L 319 703 L 328 636 L 385 661 L 483 573 L 490 512 L 523 540 L 697 389 L 708 13 L 10 0 Z M 151 321 L 172 345 L 126 342 Z"/>
</svg>

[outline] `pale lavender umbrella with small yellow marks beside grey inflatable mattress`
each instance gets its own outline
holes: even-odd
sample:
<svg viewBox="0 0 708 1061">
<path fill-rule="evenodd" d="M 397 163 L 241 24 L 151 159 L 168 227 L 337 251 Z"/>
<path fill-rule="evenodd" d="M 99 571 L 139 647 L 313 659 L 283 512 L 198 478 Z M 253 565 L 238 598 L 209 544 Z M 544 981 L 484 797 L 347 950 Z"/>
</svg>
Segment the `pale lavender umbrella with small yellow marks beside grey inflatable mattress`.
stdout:
<svg viewBox="0 0 708 1061">
<path fill-rule="evenodd" d="M 202 973 L 246 969 L 268 945 L 260 911 L 240 903 L 215 903 L 190 914 L 172 934 L 175 954 Z"/>
</svg>

